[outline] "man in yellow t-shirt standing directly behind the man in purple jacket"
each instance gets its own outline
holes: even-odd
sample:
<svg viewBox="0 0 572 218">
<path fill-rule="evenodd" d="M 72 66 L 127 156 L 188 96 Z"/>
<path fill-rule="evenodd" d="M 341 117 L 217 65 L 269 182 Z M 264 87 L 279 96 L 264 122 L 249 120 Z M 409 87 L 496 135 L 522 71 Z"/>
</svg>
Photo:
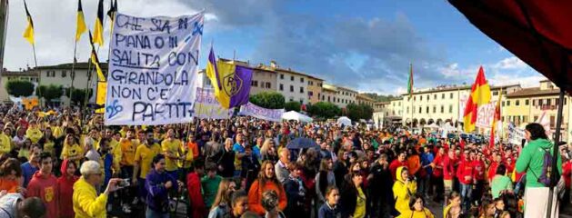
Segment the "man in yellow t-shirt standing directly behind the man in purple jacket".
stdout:
<svg viewBox="0 0 572 218">
<path fill-rule="evenodd" d="M 161 146 L 155 143 L 152 131 L 139 134 L 139 140 L 144 143 L 139 144 L 135 151 L 135 167 L 131 183 L 137 185 L 139 198 L 145 199 L 147 194 L 145 189 L 146 176 L 147 173 L 151 172 L 153 158 L 156 154 L 161 153 Z M 137 174 L 139 177 L 136 176 Z"/>
</svg>

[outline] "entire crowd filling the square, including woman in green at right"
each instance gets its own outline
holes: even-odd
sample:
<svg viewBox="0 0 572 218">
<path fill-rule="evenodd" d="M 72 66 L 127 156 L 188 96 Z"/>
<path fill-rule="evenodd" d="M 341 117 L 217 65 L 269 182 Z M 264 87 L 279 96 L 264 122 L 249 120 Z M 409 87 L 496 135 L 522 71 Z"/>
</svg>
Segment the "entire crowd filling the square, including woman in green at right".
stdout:
<svg viewBox="0 0 572 218">
<path fill-rule="evenodd" d="M 547 167 L 555 144 L 540 124 L 526 145 L 491 146 L 401 125 L 0 113 L 0 217 L 542 217 L 550 173 L 562 178 L 554 204 L 569 198 L 572 159 L 563 146 Z"/>
</svg>

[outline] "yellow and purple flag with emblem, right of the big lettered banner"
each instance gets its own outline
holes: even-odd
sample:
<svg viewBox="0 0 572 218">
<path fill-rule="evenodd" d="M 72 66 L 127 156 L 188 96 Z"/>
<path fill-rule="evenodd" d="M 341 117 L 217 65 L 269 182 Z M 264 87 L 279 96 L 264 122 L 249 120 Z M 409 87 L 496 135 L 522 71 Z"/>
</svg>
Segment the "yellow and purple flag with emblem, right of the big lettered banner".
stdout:
<svg viewBox="0 0 572 218">
<path fill-rule="evenodd" d="M 216 63 L 211 47 L 206 64 L 206 76 L 211 81 L 218 102 L 226 109 L 248 103 L 252 69 L 236 64 Z"/>
</svg>

